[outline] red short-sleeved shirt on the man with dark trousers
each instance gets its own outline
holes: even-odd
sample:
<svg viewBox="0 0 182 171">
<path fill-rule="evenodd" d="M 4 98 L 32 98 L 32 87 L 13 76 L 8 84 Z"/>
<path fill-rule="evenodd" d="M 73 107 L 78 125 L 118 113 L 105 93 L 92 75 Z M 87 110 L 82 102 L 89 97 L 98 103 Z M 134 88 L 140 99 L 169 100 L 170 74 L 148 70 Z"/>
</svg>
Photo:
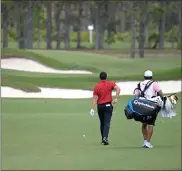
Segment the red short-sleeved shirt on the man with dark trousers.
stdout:
<svg viewBox="0 0 182 171">
<path fill-rule="evenodd" d="M 116 86 L 114 82 L 101 80 L 95 87 L 93 95 L 98 96 L 97 104 L 112 102 L 112 90 Z"/>
</svg>

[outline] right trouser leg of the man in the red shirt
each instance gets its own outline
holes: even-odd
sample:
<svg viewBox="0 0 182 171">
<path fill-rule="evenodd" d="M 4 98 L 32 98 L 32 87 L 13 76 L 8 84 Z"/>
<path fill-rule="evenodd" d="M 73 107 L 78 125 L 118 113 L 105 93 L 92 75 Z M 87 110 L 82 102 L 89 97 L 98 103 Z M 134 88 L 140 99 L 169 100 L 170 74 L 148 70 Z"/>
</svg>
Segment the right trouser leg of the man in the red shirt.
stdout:
<svg viewBox="0 0 182 171">
<path fill-rule="evenodd" d="M 108 135 L 109 135 L 112 111 L 113 111 L 112 106 L 106 107 L 105 114 L 104 114 L 104 132 L 103 132 L 103 136 L 106 139 L 108 138 Z"/>
</svg>

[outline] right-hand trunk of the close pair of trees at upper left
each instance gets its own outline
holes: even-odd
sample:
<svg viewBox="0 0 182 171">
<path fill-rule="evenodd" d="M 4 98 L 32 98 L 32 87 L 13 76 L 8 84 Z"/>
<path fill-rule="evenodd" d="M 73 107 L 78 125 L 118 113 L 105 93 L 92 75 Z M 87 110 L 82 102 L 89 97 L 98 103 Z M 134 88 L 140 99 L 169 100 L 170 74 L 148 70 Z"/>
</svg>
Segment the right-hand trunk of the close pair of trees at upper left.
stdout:
<svg viewBox="0 0 182 171">
<path fill-rule="evenodd" d="M 27 48 L 32 49 L 33 48 L 33 2 L 29 0 L 28 2 L 28 20 L 27 20 Z"/>
</svg>

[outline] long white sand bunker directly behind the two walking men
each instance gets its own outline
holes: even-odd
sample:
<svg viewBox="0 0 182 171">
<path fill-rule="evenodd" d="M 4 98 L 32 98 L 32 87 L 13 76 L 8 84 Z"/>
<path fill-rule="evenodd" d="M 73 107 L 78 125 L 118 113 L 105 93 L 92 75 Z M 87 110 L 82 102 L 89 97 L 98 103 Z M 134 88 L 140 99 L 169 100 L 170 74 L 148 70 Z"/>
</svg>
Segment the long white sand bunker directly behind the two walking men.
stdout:
<svg viewBox="0 0 182 171">
<path fill-rule="evenodd" d="M 138 82 L 119 82 L 117 83 L 121 88 L 121 95 L 132 95 L 133 89 Z M 181 92 L 181 81 L 161 81 L 159 82 L 163 92 L 177 93 Z M 58 88 L 44 88 L 40 87 L 41 92 L 27 93 L 11 87 L 1 87 L 1 97 L 7 98 L 61 98 L 61 99 L 84 99 L 91 98 L 92 91 L 87 90 L 72 90 L 72 89 L 58 89 Z M 115 92 L 113 92 L 115 95 Z"/>
</svg>

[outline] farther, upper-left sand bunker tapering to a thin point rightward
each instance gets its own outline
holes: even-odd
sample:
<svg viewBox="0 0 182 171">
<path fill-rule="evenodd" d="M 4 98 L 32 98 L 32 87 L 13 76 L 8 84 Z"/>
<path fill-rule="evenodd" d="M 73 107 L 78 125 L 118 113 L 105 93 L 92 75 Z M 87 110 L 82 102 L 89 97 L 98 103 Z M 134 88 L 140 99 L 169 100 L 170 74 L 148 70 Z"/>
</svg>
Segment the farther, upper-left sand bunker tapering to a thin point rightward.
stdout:
<svg viewBox="0 0 182 171">
<path fill-rule="evenodd" d="M 89 71 L 56 70 L 53 68 L 49 68 L 45 65 L 42 65 L 38 62 L 35 62 L 33 60 L 22 59 L 22 58 L 1 59 L 1 68 L 13 69 L 13 70 L 19 70 L 19 71 L 28 71 L 28 72 L 42 72 L 42 73 L 92 74 L 92 72 L 89 72 Z"/>
</svg>

